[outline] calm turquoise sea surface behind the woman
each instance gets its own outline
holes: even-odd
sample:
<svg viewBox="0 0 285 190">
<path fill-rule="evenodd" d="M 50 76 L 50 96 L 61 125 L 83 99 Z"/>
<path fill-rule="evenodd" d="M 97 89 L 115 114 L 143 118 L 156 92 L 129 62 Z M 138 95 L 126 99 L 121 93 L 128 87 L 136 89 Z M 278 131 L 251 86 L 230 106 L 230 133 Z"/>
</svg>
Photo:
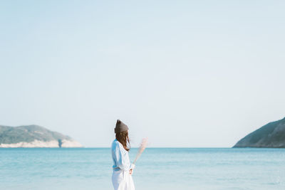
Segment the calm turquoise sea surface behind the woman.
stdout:
<svg viewBox="0 0 285 190">
<path fill-rule="evenodd" d="M 0 149 L 0 189 L 111 190 L 112 164 L 108 148 Z M 136 190 L 285 189 L 285 149 L 148 148 L 133 179 Z"/>
</svg>

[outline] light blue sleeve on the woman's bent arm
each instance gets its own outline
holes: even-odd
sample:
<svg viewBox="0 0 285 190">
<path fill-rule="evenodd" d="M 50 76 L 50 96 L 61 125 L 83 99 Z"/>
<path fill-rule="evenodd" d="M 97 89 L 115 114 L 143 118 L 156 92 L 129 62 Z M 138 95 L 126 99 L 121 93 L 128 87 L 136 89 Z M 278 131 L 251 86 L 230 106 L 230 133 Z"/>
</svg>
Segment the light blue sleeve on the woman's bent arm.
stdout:
<svg viewBox="0 0 285 190">
<path fill-rule="evenodd" d="M 116 144 L 115 149 L 115 161 L 117 162 L 118 167 L 124 171 L 129 171 L 131 169 L 131 164 L 128 158 L 128 154 L 123 152 L 123 149 L 119 144 Z"/>
</svg>

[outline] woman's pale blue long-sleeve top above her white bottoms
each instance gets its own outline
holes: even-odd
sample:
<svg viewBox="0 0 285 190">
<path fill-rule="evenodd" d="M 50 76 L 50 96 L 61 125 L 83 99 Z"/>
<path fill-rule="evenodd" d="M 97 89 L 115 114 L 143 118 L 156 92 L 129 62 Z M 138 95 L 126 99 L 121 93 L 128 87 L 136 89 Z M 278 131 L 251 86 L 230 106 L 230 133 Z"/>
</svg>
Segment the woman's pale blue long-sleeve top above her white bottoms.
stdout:
<svg viewBox="0 0 285 190">
<path fill-rule="evenodd" d="M 123 147 L 123 145 L 115 139 L 112 143 L 112 157 L 113 157 L 113 170 L 129 171 L 134 169 L 135 165 L 130 164 L 129 153 Z"/>
</svg>

